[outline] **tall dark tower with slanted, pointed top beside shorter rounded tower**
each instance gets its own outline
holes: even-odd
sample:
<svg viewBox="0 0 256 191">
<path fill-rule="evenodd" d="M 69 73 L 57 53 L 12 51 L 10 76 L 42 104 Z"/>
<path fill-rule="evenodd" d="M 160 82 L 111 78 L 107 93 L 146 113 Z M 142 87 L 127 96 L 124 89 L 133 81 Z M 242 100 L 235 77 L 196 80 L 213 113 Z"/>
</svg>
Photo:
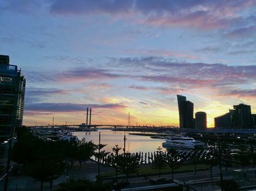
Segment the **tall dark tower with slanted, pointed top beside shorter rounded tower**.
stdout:
<svg viewBox="0 0 256 191">
<path fill-rule="evenodd" d="M 194 129 L 194 104 L 185 96 L 177 95 L 180 128 Z"/>
</svg>

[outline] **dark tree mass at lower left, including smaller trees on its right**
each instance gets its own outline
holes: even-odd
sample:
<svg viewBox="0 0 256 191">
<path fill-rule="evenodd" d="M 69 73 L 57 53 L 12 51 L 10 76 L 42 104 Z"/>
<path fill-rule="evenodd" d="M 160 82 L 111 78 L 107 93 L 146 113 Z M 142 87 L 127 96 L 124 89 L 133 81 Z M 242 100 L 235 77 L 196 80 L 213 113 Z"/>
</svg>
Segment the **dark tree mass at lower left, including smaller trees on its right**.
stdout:
<svg viewBox="0 0 256 191">
<path fill-rule="evenodd" d="M 77 141 L 76 137 L 70 141 L 45 141 L 23 132 L 13 147 L 12 160 L 23 164 L 25 174 L 40 181 L 42 190 L 43 182 L 50 181 L 52 187 L 52 181 L 63 174 L 66 159 L 81 162 L 92 157 L 93 152 L 92 141 Z"/>
</svg>

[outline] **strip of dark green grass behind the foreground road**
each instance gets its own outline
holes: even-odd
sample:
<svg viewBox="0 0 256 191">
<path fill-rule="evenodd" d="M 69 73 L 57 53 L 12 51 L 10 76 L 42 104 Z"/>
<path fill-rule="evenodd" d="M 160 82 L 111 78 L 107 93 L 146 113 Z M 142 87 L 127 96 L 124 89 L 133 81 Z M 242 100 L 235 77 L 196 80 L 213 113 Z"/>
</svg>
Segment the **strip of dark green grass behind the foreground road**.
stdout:
<svg viewBox="0 0 256 191">
<path fill-rule="evenodd" d="M 195 168 L 194 164 L 189 164 L 189 165 L 182 165 L 177 169 L 174 169 L 174 172 L 185 172 L 185 171 L 193 171 Z M 208 166 L 206 164 L 197 164 L 196 169 L 197 170 L 206 170 Z M 161 174 L 166 174 L 170 173 L 172 174 L 172 169 L 169 168 L 169 166 L 166 169 L 161 170 Z M 158 174 L 157 169 L 152 169 L 151 165 L 141 165 L 138 171 L 139 175 L 151 175 L 151 174 Z M 115 176 L 116 172 L 111 171 L 111 172 L 106 172 L 103 174 L 100 174 L 101 177 L 107 177 L 107 176 Z M 118 174 L 121 175 L 121 174 Z M 137 175 L 136 173 L 130 174 L 131 176 Z"/>
</svg>

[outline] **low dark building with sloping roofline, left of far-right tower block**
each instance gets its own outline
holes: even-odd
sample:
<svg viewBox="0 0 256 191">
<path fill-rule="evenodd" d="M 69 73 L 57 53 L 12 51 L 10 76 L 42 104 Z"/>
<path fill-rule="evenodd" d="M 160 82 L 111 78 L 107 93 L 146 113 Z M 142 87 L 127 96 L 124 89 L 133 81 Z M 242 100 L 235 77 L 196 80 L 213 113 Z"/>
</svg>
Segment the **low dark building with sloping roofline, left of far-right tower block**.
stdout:
<svg viewBox="0 0 256 191">
<path fill-rule="evenodd" d="M 235 127 L 234 110 L 229 110 L 227 114 L 214 118 L 215 127 L 231 128 Z"/>
</svg>

